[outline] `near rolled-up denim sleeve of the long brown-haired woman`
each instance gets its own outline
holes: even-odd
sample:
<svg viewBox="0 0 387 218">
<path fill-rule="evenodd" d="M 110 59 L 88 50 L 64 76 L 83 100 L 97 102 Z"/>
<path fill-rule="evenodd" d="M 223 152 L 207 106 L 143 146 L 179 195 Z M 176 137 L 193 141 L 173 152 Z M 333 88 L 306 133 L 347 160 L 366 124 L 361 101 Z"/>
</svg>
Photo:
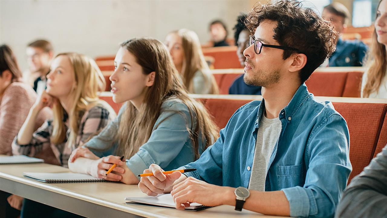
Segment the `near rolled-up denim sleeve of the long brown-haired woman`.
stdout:
<svg viewBox="0 0 387 218">
<path fill-rule="evenodd" d="M 191 114 L 185 104 L 173 102 L 168 108 L 162 109 L 148 141 L 127 160 L 128 168 L 135 175 L 139 175 L 152 163 L 158 164 L 161 168 L 168 166 L 178 156 L 183 146 L 187 146 L 186 142 L 191 140 L 187 126 L 193 129 Z M 190 157 L 180 158 L 194 159 L 194 150 L 191 154 Z"/>
</svg>

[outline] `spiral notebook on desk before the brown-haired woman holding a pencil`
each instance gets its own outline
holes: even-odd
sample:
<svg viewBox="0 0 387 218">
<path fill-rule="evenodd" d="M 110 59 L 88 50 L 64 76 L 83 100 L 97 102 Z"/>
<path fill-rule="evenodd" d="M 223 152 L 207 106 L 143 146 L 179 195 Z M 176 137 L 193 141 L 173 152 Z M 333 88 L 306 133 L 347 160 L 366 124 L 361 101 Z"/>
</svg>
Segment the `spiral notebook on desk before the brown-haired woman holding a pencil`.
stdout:
<svg viewBox="0 0 387 218">
<path fill-rule="evenodd" d="M 107 182 L 104 179 L 94 178 L 81 173 L 31 173 L 24 172 L 23 176 L 46 183 L 80 183 L 80 182 Z"/>
</svg>

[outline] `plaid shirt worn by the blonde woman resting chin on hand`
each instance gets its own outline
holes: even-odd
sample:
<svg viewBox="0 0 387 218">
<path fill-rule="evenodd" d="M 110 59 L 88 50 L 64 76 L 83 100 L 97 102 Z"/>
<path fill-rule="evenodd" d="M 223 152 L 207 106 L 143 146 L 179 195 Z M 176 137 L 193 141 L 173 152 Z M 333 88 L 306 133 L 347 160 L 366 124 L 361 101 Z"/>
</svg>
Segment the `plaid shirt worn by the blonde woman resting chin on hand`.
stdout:
<svg viewBox="0 0 387 218">
<path fill-rule="evenodd" d="M 98 134 L 98 131 L 103 129 L 108 123 L 115 118 L 115 114 L 109 113 L 108 109 L 95 106 L 86 112 L 80 112 L 80 123 L 78 136 L 75 140 L 75 144 L 67 145 L 67 140 L 70 135 L 70 129 L 68 128 L 68 116 L 63 116 L 66 128 L 66 138 L 60 144 L 51 143 L 50 136 L 53 132 L 52 119 L 47 120 L 38 130 L 33 133 L 31 142 L 26 145 L 20 145 L 17 143 L 17 136 L 12 142 L 12 152 L 14 155 L 23 154 L 28 156 L 34 156 L 43 151 L 46 147 L 50 146 L 55 157 L 62 166 L 67 167 L 67 161 L 70 154 L 78 146 L 83 145 L 92 136 Z"/>
</svg>

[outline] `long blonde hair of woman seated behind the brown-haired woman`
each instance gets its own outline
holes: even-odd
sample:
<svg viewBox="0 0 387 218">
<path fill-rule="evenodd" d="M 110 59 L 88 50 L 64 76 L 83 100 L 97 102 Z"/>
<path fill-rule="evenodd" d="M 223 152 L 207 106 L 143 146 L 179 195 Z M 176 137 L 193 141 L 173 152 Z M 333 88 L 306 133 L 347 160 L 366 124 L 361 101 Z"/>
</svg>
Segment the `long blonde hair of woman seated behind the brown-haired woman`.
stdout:
<svg viewBox="0 0 387 218">
<path fill-rule="evenodd" d="M 192 78 L 194 78 L 195 73 L 200 70 L 204 77 L 206 87 L 211 85 L 208 94 L 218 94 L 219 88 L 217 87 L 215 78 L 212 76 L 207 62 L 205 62 L 202 46 L 200 45 L 199 37 L 196 33 L 189 29 L 179 29 L 171 33 L 175 33 L 182 38 L 182 47 L 184 51 L 182 77 L 188 92 L 194 93 Z"/>
</svg>

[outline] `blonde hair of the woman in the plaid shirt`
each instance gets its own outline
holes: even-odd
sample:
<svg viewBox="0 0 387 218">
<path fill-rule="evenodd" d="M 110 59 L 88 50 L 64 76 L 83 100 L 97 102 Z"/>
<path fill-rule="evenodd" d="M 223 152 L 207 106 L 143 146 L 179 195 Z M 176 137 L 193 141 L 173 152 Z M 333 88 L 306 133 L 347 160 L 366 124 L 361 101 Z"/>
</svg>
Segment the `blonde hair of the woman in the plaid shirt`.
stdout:
<svg viewBox="0 0 387 218">
<path fill-rule="evenodd" d="M 61 53 L 56 57 L 61 55 L 68 57 L 74 69 L 74 89 L 70 93 L 74 102 L 68 114 L 70 135 L 67 144 L 70 146 L 76 143 L 81 119 L 80 112 L 87 111 L 97 105 L 105 108 L 111 107 L 98 98 L 98 92 L 105 90 L 105 80 L 96 62 L 86 55 L 77 53 Z M 66 139 L 66 128 L 63 122 L 64 112 L 65 110 L 59 102 L 53 106 L 51 142 L 55 144 L 60 144 Z"/>
</svg>

